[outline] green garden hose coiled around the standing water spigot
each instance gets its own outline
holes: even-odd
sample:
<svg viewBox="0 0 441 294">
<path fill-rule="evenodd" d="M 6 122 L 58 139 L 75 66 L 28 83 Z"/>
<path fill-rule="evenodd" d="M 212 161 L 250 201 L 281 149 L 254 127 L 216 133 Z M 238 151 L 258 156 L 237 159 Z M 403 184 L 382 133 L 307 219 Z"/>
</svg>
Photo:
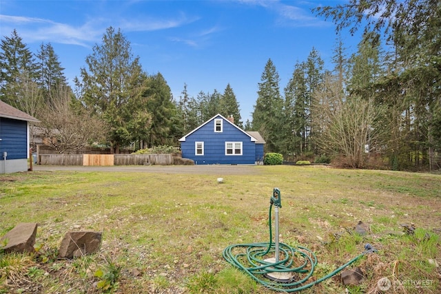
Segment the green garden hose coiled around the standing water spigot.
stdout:
<svg viewBox="0 0 441 294">
<path fill-rule="evenodd" d="M 313 282 L 307 283 L 311 275 L 314 273 L 314 269 L 317 265 L 316 255 L 309 249 L 303 246 L 296 246 L 296 248 L 291 247 L 287 244 L 280 243 L 279 251 L 280 258 L 278 262 L 271 263 L 265 261 L 263 258 L 269 253 L 274 253 L 274 244 L 272 243 L 272 230 L 271 230 L 271 208 L 272 203 L 269 206 L 269 242 L 262 243 L 250 243 L 250 244 L 234 244 L 228 246 L 223 251 L 223 258 L 227 260 L 233 266 L 238 269 L 245 271 L 253 280 L 263 284 L 263 286 L 270 288 L 274 291 L 281 291 L 285 293 L 292 293 L 296 291 L 302 291 L 306 288 L 314 286 L 324 280 L 333 277 L 334 275 L 340 273 L 345 267 L 349 266 L 353 262 L 356 262 L 366 253 L 376 252 L 375 249 L 370 244 L 365 245 L 365 251 L 355 258 L 349 260 L 349 262 L 343 264 L 335 271 L 321 277 L 320 279 L 314 280 Z M 302 260 L 302 264 L 297 267 L 292 267 L 294 264 L 294 257 L 298 260 Z M 244 264 L 247 264 L 246 266 Z M 267 273 L 291 273 L 293 279 L 288 282 L 278 282 L 270 280 L 265 277 Z"/>
</svg>

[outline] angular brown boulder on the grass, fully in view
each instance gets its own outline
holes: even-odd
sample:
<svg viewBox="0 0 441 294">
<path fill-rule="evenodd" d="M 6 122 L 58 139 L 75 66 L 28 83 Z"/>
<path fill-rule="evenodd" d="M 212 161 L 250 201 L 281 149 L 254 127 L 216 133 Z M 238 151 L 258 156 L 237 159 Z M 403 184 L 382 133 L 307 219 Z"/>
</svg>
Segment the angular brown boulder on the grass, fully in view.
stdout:
<svg viewBox="0 0 441 294">
<path fill-rule="evenodd" d="M 98 251 L 102 232 L 79 231 L 64 235 L 59 249 L 59 258 L 79 258 Z"/>
</svg>

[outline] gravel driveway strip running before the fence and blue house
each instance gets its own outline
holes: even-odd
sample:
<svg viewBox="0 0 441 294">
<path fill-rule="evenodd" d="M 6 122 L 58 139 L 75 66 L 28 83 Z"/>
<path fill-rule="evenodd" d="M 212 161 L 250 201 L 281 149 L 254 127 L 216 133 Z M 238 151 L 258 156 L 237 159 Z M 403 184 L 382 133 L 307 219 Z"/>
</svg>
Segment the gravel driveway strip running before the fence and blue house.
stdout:
<svg viewBox="0 0 441 294">
<path fill-rule="evenodd" d="M 202 175 L 258 175 L 257 165 L 114 165 L 91 167 L 79 165 L 33 165 L 34 171 L 119 171 L 147 172 L 163 174 L 202 174 Z"/>
</svg>

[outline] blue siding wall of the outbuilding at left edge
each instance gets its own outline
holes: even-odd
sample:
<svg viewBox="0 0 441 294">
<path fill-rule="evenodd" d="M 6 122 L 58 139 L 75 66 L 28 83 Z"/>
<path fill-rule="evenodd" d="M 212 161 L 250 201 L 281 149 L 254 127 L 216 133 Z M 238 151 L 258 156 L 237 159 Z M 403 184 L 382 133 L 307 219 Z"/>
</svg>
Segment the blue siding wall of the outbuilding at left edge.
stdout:
<svg viewBox="0 0 441 294">
<path fill-rule="evenodd" d="M 0 118 L 0 160 L 8 152 L 7 160 L 28 158 L 28 123 L 24 120 Z"/>
</svg>

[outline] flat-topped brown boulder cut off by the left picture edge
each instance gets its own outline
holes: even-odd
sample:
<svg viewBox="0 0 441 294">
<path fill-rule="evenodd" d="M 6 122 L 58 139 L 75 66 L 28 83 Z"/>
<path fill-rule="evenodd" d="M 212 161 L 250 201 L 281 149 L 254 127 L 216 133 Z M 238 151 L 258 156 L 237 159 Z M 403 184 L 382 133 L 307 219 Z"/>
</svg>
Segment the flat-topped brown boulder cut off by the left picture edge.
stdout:
<svg viewBox="0 0 441 294">
<path fill-rule="evenodd" d="M 36 236 L 36 222 L 21 222 L 0 239 L 0 244 L 6 240 L 6 246 L 3 247 L 5 253 L 33 252 Z"/>
</svg>

